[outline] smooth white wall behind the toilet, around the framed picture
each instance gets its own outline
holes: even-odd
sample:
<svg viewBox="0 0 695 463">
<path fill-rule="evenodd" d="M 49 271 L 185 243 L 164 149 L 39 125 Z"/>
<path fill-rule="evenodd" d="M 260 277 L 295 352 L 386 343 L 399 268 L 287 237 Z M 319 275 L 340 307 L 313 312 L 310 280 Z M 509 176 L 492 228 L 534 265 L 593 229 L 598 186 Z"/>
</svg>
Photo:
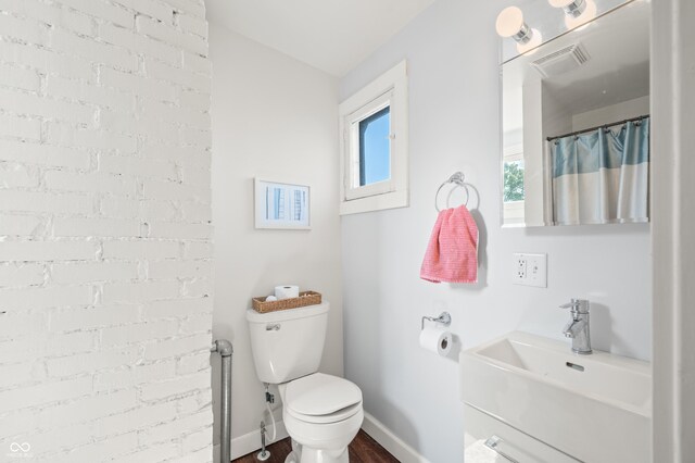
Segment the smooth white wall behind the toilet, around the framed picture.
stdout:
<svg viewBox="0 0 695 463">
<path fill-rule="evenodd" d="M 254 433 L 264 410 L 244 318 L 252 297 L 268 295 L 280 284 L 321 292 L 331 302 L 321 370 L 343 372 L 338 80 L 216 26 L 211 27 L 211 58 L 213 331 L 235 346 L 231 428 L 232 454 L 239 454 L 261 446 Z M 309 185 L 312 229 L 254 229 L 255 176 Z"/>
</svg>

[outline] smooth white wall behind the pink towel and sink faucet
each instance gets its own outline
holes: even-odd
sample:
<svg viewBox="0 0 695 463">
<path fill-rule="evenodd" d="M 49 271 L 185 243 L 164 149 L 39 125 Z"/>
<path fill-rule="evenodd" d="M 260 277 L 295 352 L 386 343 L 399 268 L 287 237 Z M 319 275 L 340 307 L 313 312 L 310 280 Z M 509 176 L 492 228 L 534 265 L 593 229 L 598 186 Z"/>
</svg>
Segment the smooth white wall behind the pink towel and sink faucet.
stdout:
<svg viewBox="0 0 695 463">
<path fill-rule="evenodd" d="M 595 348 L 650 355 L 649 225 L 500 227 L 494 21 L 510 3 L 439 0 L 341 82 L 344 99 L 408 59 L 412 205 L 342 218 L 345 375 L 432 462 L 463 460 L 463 405 L 456 359 L 418 348 L 421 315 L 448 310 L 464 348 L 513 329 L 564 339 L 557 305 L 586 298 Z M 458 170 L 480 192 L 480 284 L 432 285 L 418 274 L 433 196 Z M 547 289 L 511 285 L 515 251 L 548 253 Z"/>
</svg>

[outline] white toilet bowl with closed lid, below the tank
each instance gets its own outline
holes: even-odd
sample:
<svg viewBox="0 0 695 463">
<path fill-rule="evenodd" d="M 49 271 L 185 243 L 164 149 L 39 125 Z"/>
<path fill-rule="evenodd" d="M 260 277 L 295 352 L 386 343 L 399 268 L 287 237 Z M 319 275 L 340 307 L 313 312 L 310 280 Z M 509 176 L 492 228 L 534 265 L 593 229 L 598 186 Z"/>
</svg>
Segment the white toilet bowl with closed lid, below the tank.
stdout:
<svg viewBox="0 0 695 463">
<path fill-rule="evenodd" d="M 337 376 L 314 373 L 279 386 L 282 421 L 293 440 L 286 463 L 345 463 L 362 422 L 362 391 Z"/>
</svg>

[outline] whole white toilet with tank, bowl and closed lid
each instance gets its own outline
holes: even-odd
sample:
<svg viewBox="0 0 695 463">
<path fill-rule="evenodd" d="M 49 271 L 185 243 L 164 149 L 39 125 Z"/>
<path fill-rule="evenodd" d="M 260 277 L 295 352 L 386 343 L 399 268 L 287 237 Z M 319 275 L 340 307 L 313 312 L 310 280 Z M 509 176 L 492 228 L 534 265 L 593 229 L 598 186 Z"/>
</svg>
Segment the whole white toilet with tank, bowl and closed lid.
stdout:
<svg viewBox="0 0 695 463">
<path fill-rule="evenodd" d="M 280 391 L 282 421 L 292 438 L 286 463 L 349 462 L 348 445 L 364 420 L 359 388 L 318 373 L 329 309 L 324 302 L 268 313 L 247 311 L 258 379 Z"/>
</svg>

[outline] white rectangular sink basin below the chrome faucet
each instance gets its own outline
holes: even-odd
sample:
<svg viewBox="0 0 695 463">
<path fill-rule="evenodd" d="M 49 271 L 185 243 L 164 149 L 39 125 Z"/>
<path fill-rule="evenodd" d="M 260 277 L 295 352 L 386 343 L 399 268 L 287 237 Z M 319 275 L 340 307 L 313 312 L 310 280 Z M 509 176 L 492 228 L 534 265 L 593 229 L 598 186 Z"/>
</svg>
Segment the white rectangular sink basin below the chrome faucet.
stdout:
<svg viewBox="0 0 695 463">
<path fill-rule="evenodd" d="M 585 462 L 648 462 L 649 363 L 526 333 L 460 353 L 462 400 Z"/>
</svg>

